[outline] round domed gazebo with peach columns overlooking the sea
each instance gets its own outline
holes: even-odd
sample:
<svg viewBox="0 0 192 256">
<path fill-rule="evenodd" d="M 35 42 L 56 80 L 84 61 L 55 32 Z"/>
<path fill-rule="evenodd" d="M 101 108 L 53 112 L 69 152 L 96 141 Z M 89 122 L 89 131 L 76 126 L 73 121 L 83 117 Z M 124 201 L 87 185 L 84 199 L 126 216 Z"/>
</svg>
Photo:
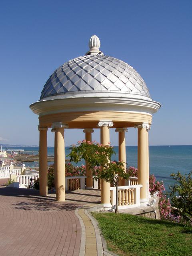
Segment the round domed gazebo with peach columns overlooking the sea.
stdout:
<svg viewBox="0 0 192 256">
<path fill-rule="evenodd" d="M 126 162 L 125 132 L 138 129 L 138 184 L 140 204 L 149 198 L 148 130 L 152 114 L 160 103 L 150 97 L 146 83 L 126 62 L 100 51 L 100 40 L 93 35 L 90 50 L 84 56 L 69 60 L 47 80 L 40 100 L 30 105 L 39 116 L 38 130 L 40 195 L 47 196 L 47 130 L 54 132 L 56 200 L 65 201 L 64 130 L 81 128 L 86 141 L 93 129 L 100 128 L 101 143 L 110 142 L 110 128 L 118 132 L 119 160 Z M 92 188 L 92 174 L 86 167 L 86 186 Z M 122 186 L 124 181 L 122 181 Z M 101 203 L 111 207 L 110 183 L 101 182 Z"/>
</svg>

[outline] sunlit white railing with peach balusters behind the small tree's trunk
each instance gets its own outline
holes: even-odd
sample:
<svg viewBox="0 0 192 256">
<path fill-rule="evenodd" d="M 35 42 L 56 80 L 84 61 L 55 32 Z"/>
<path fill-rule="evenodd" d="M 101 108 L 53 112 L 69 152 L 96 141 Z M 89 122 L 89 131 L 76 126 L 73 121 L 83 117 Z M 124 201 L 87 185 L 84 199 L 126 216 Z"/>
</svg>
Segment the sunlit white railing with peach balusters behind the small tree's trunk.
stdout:
<svg viewBox="0 0 192 256">
<path fill-rule="evenodd" d="M 118 208 L 133 208 L 140 206 L 140 188 L 142 185 L 119 186 L 118 187 Z M 110 187 L 112 207 L 116 204 L 116 188 Z"/>
</svg>

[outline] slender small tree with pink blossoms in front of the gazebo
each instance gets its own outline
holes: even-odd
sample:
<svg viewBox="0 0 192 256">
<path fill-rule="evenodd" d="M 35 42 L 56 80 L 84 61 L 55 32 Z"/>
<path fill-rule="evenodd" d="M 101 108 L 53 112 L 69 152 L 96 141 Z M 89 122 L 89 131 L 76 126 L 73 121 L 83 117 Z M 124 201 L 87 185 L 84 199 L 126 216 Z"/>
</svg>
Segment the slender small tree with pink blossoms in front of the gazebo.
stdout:
<svg viewBox="0 0 192 256">
<path fill-rule="evenodd" d="M 86 143 L 86 140 L 83 140 L 78 142 L 78 146 L 72 146 L 70 150 L 71 152 L 68 154 L 70 162 L 74 161 L 77 163 L 84 159 L 92 170 L 95 166 L 101 167 L 98 169 L 96 179 L 103 179 L 116 187 L 115 213 L 118 213 L 118 182 L 120 178 L 129 178 L 129 174 L 126 174 L 122 162 L 110 162 L 112 155 L 115 154 L 113 147 L 110 144 Z"/>
</svg>

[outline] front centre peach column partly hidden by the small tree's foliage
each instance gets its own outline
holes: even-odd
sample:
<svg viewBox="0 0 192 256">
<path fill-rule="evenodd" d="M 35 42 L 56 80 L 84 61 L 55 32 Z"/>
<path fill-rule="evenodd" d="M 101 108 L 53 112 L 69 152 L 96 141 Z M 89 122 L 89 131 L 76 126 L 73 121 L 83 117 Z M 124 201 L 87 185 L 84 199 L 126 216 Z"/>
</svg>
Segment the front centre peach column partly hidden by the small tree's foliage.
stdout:
<svg viewBox="0 0 192 256">
<path fill-rule="evenodd" d="M 101 127 L 101 144 L 107 145 L 110 142 L 109 127 L 113 126 L 113 122 L 101 120 L 98 126 Z M 112 207 L 110 203 L 110 183 L 104 180 L 101 180 L 101 203 L 106 210 Z"/>
</svg>

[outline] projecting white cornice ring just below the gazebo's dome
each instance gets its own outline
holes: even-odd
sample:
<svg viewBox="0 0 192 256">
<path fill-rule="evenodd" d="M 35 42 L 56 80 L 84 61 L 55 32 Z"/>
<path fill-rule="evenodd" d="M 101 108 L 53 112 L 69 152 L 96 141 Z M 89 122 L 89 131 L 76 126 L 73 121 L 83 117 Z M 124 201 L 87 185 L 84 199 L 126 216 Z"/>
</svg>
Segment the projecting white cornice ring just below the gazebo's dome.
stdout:
<svg viewBox="0 0 192 256">
<path fill-rule="evenodd" d="M 80 111 L 123 111 L 153 114 L 161 104 L 152 100 L 96 97 L 45 100 L 30 105 L 31 110 L 39 116 L 61 112 Z"/>
</svg>

